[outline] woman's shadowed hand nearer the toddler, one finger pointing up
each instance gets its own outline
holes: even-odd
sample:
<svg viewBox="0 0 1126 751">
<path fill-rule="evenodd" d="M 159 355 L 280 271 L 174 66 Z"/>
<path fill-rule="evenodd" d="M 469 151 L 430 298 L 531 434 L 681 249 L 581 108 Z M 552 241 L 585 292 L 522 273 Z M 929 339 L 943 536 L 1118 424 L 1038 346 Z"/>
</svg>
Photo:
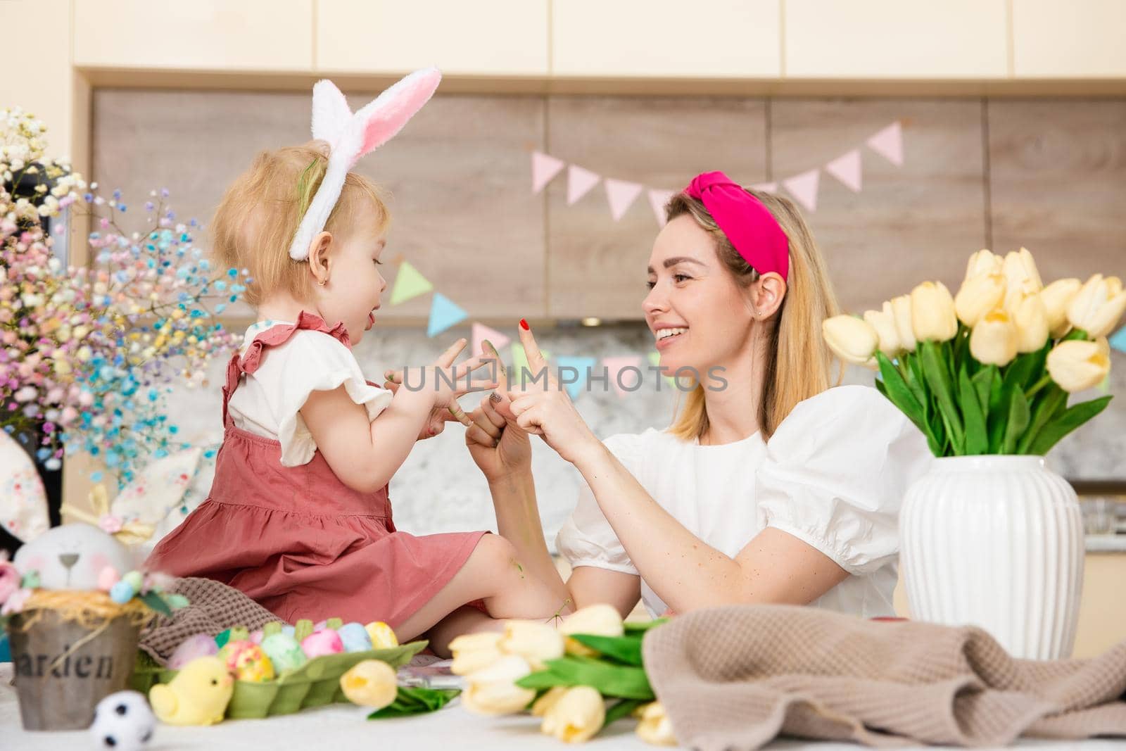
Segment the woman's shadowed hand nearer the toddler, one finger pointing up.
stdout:
<svg viewBox="0 0 1126 751">
<path fill-rule="evenodd" d="M 485 355 L 495 359 L 497 391 L 473 410 L 473 424 L 465 431 L 470 456 L 489 482 L 531 471 L 531 444 L 508 409 L 508 374 L 497 348 L 484 341 Z"/>
</svg>

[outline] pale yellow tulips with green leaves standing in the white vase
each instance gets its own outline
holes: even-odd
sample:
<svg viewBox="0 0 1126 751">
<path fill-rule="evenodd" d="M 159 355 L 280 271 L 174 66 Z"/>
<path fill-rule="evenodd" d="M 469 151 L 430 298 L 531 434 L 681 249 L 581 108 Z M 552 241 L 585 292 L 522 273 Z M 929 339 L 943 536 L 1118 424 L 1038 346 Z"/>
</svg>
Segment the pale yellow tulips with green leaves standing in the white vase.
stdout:
<svg viewBox="0 0 1126 751">
<path fill-rule="evenodd" d="M 1126 311 L 1118 277 L 1040 281 L 1028 250 L 969 258 L 958 294 L 924 281 L 864 318 L 822 332 L 914 422 L 935 456 L 1038 454 L 1101 412 L 1110 396 L 1067 395 L 1110 372 L 1109 334 Z"/>
</svg>

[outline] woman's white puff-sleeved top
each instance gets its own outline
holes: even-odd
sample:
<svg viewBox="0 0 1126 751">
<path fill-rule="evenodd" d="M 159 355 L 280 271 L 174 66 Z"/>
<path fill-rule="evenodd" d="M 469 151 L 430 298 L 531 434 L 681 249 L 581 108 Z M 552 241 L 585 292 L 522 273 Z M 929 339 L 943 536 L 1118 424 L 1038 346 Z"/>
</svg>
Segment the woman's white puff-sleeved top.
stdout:
<svg viewBox="0 0 1126 751">
<path fill-rule="evenodd" d="M 851 576 L 812 605 L 865 618 L 894 615 L 899 510 L 931 454 L 922 432 L 875 388 L 838 386 L 798 404 L 769 442 L 760 433 L 700 446 L 649 429 L 605 441 L 653 499 L 734 557 L 766 527 L 817 548 Z M 572 566 L 637 574 L 583 483 L 556 538 Z M 641 582 L 654 617 L 668 606 Z"/>
</svg>

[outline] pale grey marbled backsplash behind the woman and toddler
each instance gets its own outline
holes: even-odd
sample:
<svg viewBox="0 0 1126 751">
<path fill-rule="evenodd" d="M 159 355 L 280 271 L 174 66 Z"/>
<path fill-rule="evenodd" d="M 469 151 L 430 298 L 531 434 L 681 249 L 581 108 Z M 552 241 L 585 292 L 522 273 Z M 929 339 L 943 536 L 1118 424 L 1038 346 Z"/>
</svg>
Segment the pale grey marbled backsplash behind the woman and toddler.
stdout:
<svg viewBox="0 0 1126 751">
<path fill-rule="evenodd" d="M 513 324 L 513 337 L 515 328 Z M 468 337 L 464 328 L 434 339 L 418 329 L 376 329 L 365 334 L 355 351 L 367 377 L 382 381 L 387 368 L 432 363 L 445 347 L 463 336 Z M 643 368 L 649 365 L 646 355 L 653 351 L 652 336 L 641 324 L 558 327 L 538 331 L 537 340 L 553 357 L 593 357 L 600 363 L 604 357 L 637 355 Z M 506 359 L 511 361 L 510 357 Z M 225 363 L 213 364 L 209 386 L 190 394 L 176 394 L 170 400 L 171 417 L 188 440 L 203 444 L 221 439 L 220 390 L 224 368 Z M 600 365 L 596 367 L 598 370 Z M 872 378 L 869 372 L 852 368 L 846 382 L 872 383 Z M 1114 355 L 1110 390 L 1126 394 L 1126 356 L 1118 352 Z M 646 372 L 635 392 L 618 396 L 609 385 L 597 383 L 580 394 L 575 406 L 595 433 L 605 438 L 669 424 L 678 394 L 674 386 Z M 480 399 L 481 395 L 467 395 L 462 403 L 468 411 Z M 542 440 L 531 440 L 539 509 L 548 544 L 554 548 L 555 533 L 574 507 L 579 475 Z M 1103 414 L 1057 446 L 1048 464 L 1069 479 L 1126 479 L 1126 401 L 1112 400 Z M 198 483 L 206 492 L 211 484 L 209 467 L 200 473 Z M 495 528 L 484 477 L 465 448 L 464 430 L 453 422 L 447 423 L 440 436 L 415 446 L 392 480 L 391 499 L 395 524 L 412 534 Z"/>
</svg>

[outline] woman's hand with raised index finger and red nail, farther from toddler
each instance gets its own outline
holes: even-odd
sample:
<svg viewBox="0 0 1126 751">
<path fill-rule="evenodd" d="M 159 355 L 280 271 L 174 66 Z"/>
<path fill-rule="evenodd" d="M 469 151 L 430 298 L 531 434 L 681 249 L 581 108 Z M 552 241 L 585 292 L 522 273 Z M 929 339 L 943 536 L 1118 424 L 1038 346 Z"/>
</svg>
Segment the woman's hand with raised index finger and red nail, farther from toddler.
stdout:
<svg viewBox="0 0 1126 751">
<path fill-rule="evenodd" d="M 520 342 L 528 357 L 531 375 L 537 377 L 540 373 L 546 373 L 547 383 L 546 386 L 542 385 L 540 377 L 527 384 L 509 384 L 508 396 L 512 402 L 511 411 L 516 423 L 542 437 L 560 456 L 575 464 L 584 454 L 600 450 L 602 444 L 579 417 L 571 399 L 552 375 L 535 337 L 531 336 L 531 329 L 526 329 L 524 321 L 520 323 Z"/>
</svg>

